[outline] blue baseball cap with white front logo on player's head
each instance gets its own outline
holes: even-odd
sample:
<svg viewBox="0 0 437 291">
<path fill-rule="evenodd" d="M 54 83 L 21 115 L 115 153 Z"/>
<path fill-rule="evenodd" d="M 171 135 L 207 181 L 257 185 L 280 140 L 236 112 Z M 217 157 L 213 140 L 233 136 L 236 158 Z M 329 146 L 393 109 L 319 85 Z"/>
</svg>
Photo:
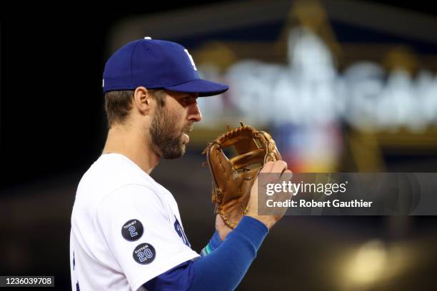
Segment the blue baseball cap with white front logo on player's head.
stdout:
<svg viewBox="0 0 437 291">
<path fill-rule="evenodd" d="M 199 77 L 189 52 L 172 41 L 146 37 L 116 51 L 104 69 L 103 91 L 164 88 L 171 91 L 218 95 L 229 86 Z"/>
</svg>

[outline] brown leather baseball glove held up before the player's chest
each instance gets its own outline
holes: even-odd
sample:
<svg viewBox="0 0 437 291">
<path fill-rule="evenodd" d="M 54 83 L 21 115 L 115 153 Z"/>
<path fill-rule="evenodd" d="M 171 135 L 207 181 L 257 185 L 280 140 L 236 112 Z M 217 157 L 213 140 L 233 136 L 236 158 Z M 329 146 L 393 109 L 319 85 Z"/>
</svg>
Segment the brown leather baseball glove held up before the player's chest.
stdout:
<svg viewBox="0 0 437 291">
<path fill-rule="evenodd" d="M 224 148 L 233 146 L 236 156 L 228 159 Z M 265 131 L 251 126 L 228 128 L 206 146 L 206 160 L 213 178 L 212 202 L 224 223 L 235 228 L 247 212 L 251 187 L 258 171 L 268 161 L 281 160 L 275 141 Z"/>
</svg>

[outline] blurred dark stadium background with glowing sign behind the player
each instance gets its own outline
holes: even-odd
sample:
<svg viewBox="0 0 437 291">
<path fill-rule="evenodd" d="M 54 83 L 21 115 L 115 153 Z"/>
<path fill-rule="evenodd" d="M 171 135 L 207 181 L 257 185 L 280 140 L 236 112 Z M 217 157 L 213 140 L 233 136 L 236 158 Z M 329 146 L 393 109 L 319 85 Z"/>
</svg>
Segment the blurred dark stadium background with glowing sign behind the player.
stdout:
<svg viewBox="0 0 437 291">
<path fill-rule="evenodd" d="M 226 125 L 271 132 L 294 172 L 436 172 L 432 6 L 204 1 L 114 9 L 1 11 L 0 275 L 55 275 L 56 289 L 69 289 L 76 185 L 106 136 L 101 73 L 116 48 L 144 36 L 183 44 L 202 76 L 231 85 L 199 101 L 204 121 L 184 158 L 152 173 L 178 200 L 195 250 L 214 232 L 201 150 Z M 436 243 L 433 216 L 286 217 L 238 290 L 436 290 Z"/>
</svg>

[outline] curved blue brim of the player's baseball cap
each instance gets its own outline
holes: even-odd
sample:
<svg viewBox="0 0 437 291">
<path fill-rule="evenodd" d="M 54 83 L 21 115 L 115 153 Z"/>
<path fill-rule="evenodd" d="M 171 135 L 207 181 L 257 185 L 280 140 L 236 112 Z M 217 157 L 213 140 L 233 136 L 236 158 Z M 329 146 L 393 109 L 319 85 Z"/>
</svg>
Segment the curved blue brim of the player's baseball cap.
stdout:
<svg viewBox="0 0 437 291">
<path fill-rule="evenodd" d="M 199 97 L 214 96 L 226 92 L 229 86 L 206 81 L 201 78 L 181 83 L 176 86 L 166 86 L 164 89 L 179 92 L 199 93 Z"/>
</svg>

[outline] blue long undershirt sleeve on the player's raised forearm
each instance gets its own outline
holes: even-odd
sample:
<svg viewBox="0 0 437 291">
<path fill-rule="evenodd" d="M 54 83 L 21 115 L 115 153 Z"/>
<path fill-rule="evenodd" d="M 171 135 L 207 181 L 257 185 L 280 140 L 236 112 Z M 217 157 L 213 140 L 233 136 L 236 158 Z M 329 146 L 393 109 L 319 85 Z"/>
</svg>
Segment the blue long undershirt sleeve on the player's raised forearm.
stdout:
<svg viewBox="0 0 437 291">
<path fill-rule="evenodd" d="M 266 225 L 245 216 L 237 228 L 228 234 L 209 255 L 187 261 L 149 280 L 147 290 L 234 290 L 256 257 L 256 252 L 268 233 Z M 214 234 L 216 235 L 216 234 Z M 214 239 L 213 238 L 211 239 Z M 223 280 L 226 278 L 226 280 Z"/>
</svg>

